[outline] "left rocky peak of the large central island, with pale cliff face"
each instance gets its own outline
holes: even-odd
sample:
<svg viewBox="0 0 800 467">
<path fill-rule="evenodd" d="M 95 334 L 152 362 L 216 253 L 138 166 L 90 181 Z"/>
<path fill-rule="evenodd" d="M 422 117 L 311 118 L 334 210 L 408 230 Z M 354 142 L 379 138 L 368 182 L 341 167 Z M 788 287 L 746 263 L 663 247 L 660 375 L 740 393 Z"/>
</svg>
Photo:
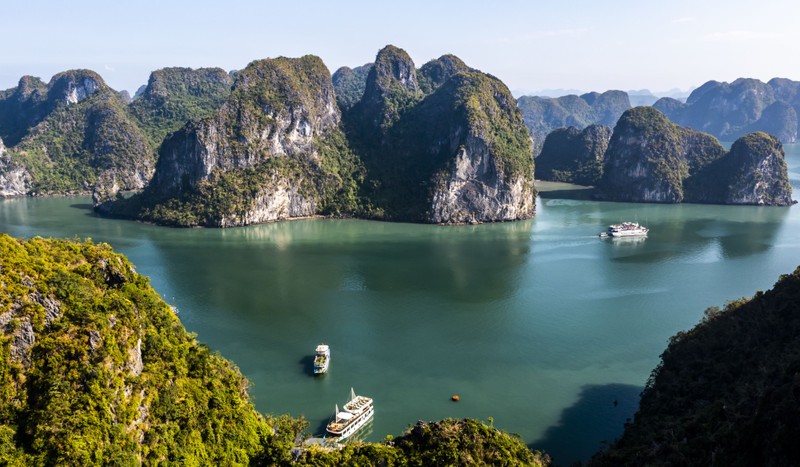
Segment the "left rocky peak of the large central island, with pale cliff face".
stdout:
<svg viewBox="0 0 800 467">
<path fill-rule="evenodd" d="M 148 190 L 175 196 L 215 171 L 280 156 L 313 159 L 315 138 L 340 119 L 330 71 L 319 57 L 256 60 L 236 74 L 212 117 L 189 122 L 164 141 Z"/>
</svg>

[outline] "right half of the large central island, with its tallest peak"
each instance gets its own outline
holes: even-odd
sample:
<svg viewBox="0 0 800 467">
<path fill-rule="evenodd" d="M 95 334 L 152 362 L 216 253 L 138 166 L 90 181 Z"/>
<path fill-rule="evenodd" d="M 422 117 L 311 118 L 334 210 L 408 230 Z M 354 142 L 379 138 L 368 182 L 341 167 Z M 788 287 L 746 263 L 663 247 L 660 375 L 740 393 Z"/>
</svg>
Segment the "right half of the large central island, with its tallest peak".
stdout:
<svg viewBox="0 0 800 467">
<path fill-rule="evenodd" d="M 464 223 L 532 216 L 531 142 L 508 89 L 453 56 L 424 68 L 420 80 L 404 51 L 384 48 L 364 99 L 348 115 L 348 128 L 367 129 L 354 139 L 378 217 Z"/>
</svg>

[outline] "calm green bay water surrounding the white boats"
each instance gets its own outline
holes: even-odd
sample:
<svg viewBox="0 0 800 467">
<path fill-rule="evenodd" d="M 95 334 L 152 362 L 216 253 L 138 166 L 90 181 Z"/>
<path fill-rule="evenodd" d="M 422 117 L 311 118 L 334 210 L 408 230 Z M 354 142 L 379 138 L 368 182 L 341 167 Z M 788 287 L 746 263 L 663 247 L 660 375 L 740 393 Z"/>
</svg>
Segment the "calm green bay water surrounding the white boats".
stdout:
<svg viewBox="0 0 800 467">
<path fill-rule="evenodd" d="M 800 148 L 786 150 L 797 198 Z M 352 386 L 375 399 L 370 440 L 491 417 L 567 464 L 619 435 L 671 335 L 800 264 L 800 207 L 601 203 L 543 186 L 535 219 L 494 225 L 182 230 L 97 218 L 88 198 L 25 198 L 0 201 L 0 231 L 126 254 L 236 362 L 261 411 L 321 432 Z M 597 237 L 624 220 L 650 236 Z M 331 370 L 314 378 L 320 342 Z"/>
</svg>

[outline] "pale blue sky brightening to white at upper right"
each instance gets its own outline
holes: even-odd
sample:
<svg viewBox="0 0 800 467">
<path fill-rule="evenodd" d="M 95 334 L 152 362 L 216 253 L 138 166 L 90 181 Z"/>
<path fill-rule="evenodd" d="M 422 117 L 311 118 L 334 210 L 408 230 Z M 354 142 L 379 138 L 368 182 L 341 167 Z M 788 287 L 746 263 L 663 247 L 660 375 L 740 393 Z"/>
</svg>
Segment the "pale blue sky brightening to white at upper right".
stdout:
<svg viewBox="0 0 800 467">
<path fill-rule="evenodd" d="M 0 89 L 88 68 L 133 94 L 160 68 L 307 54 L 333 72 L 387 44 L 417 67 L 455 54 L 516 95 L 800 80 L 796 0 L 0 0 L 0 17 Z"/>
</svg>

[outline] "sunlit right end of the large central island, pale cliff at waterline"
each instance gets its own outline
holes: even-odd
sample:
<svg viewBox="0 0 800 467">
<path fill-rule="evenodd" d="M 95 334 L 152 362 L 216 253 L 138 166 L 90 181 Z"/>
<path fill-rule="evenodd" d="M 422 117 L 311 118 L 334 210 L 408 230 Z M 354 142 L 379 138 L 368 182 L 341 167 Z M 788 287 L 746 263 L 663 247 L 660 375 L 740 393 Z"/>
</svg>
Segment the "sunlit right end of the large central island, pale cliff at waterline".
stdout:
<svg viewBox="0 0 800 467">
<path fill-rule="evenodd" d="M 465 119 L 447 137 L 450 160 L 434 176 L 426 221 L 460 224 L 533 216 L 531 142 L 510 93 L 499 80 L 479 72 L 456 75 L 439 92 L 448 93 L 451 86 L 454 94 L 469 93 L 480 104 L 459 109 Z M 512 145 L 502 147 L 505 141 L 496 139 L 498 133 L 510 135 Z"/>
</svg>

